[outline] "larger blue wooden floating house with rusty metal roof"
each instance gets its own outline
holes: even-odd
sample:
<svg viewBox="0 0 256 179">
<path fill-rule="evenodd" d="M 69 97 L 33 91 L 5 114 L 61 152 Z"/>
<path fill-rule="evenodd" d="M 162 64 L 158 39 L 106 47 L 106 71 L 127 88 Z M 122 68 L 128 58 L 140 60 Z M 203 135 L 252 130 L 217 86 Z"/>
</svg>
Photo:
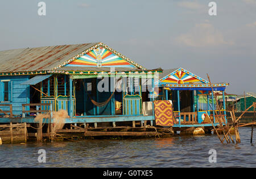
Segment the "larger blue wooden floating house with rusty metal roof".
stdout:
<svg viewBox="0 0 256 179">
<path fill-rule="evenodd" d="M 33 122 L 33 114 L 25 110 L 50 109 L 23 104 L 65 109 L 67 123 L 97 126 L 97 122 L 154 120 L 142 115 L 142 102 L 150 101 L 152 93 L 149 88 L 142 91 L 142 83 L 147 80 L 152 87 L 154 75 L 162 69 L 148 70 L 102 42 L 5 50 L 0 62 L 0 109 L 13 108 L 13 118 L 1 122 Z"/>
</svg>

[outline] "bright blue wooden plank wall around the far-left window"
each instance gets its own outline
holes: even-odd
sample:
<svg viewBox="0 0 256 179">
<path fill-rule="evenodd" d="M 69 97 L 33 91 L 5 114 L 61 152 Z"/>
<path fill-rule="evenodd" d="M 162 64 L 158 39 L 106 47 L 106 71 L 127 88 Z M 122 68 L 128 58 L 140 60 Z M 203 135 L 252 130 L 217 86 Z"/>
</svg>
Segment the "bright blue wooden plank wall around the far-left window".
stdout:
<svg viewBox="0 0 256 179">
<path fill-rule="evenodd" d="M 14 115 L 22 114 L 22 104 L 30 103 L 30 87 L 28 85 L 20 85 L 20 83 L 23 83 L 28 79 L 29 79 L 28 75 L 0 76 L 0 82 L 1 80 L 11 81 L 11 92 L 12 92 L 11 101 L 9 102 L 1 101 L 0 104 L 13 104 Z M 9 110 L 9 107 L 0 106 L 0 109 Z"/>
</svg>

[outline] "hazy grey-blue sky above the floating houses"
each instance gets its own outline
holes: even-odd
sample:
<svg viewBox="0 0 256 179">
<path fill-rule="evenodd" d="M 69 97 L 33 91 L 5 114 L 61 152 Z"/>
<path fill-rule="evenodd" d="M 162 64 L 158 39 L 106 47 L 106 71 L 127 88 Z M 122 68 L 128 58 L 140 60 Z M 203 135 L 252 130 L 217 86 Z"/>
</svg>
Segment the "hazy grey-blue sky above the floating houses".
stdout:
<svg viewBox="0 0 256 179">
<path fill-rule="evenodd" d="M 40 0 L 41 1 L 41 0 Z M 147 69 L 182 67 L 256 92 L 256 0 L 0 1 L 0 50 L 103 42 Z"/>
</svg>

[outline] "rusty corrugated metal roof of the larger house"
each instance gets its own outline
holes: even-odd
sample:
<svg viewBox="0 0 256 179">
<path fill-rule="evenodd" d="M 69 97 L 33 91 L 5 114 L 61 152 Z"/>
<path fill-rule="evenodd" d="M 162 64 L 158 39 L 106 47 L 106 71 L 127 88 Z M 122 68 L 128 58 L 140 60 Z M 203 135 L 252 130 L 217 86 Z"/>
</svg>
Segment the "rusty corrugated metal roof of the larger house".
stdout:
<svg viewBox="0 0 256 179">
<path fill-rule="evenodd" d="M 0 72 L 52 70 L 96 43 L 56 45 L 0 52 Z"/>
</svg>

